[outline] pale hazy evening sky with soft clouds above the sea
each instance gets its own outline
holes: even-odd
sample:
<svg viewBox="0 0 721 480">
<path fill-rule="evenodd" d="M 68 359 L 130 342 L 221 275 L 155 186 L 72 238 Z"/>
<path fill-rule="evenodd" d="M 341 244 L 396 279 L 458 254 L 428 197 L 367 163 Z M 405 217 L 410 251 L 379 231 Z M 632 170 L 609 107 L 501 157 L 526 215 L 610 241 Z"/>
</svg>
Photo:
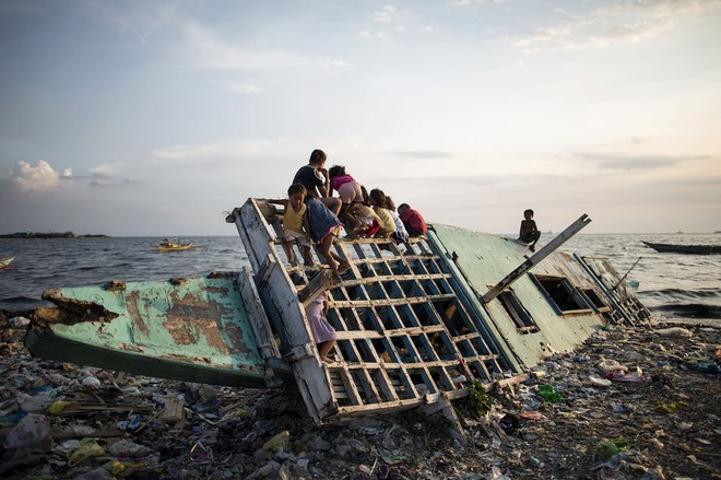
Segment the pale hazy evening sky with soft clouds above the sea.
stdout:
<svg viewBox="0 0 721 480">
<path fill-rule="evenodd" d="M 721 1 L 0 0 L 0 233 L 235 235 L 314 149 L 428 222 L 721 230 Z"/>
</svg>

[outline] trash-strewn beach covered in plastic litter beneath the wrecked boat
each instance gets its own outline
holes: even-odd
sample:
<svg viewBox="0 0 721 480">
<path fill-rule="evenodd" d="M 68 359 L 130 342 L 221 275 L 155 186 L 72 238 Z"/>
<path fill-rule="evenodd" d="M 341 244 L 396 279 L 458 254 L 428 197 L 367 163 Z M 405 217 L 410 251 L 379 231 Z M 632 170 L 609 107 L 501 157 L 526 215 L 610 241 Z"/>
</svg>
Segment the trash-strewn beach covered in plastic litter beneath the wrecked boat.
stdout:
<svg viewBox="0 0 721 480">
<path fill-rule="evenodd" d="M 33 359 L 0 314 L 8 479 L 721 478 L 721 330 L 612 327 L 501 389 L 317 426 L 293 386 L 184 384 Z"/>
</svg>

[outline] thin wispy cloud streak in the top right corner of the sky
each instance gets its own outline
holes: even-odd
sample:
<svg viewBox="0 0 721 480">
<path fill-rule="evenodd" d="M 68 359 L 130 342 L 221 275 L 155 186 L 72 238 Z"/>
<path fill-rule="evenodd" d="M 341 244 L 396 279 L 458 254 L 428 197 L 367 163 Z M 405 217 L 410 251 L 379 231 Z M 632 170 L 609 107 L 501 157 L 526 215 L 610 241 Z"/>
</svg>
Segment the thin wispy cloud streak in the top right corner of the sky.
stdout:
<svg viewBox="0 0 721 480">
<path fill-rule="evenodd" d="M 674 30 L 678 24 L 718 10 L 718 1 L 660 0 L 615 2 L 593 10 L 588 15 L 556 13 L 562 20 L 528 35 L 515 37 L 511 44 L 523 51 L 572 50 L 635 44 Z"/>
</svg>

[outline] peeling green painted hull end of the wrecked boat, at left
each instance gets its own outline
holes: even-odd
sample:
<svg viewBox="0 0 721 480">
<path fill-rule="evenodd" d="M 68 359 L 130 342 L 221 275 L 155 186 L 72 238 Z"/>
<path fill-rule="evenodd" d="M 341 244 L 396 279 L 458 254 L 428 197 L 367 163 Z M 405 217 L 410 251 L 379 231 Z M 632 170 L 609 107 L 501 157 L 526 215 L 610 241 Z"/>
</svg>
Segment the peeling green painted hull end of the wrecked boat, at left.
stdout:
<svg viewBox="0 0 721 480">
<path fill-rule="evenodd" d="M 33 355 L 80 365 L 205 384 L 276 386 L 282 381 L 259 352 L 237 276 L 46 292 L 59 308 L 47 309 L 46 318 L 43 309 L 36 312 L 25 344 Z"/>
</svg>

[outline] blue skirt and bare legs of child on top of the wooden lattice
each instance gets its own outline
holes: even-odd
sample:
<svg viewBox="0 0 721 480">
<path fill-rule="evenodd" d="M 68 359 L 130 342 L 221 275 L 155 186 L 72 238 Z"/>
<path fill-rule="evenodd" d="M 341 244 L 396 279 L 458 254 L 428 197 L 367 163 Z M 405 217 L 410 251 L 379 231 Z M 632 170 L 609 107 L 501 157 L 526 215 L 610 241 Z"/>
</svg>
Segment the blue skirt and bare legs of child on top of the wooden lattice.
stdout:
<svg viewBox="0 0 721 480">
<path fill-rule="evenodd" d="M 318 198 L 306 198 L 306 207 L 307 210 L 304 216 L 306 232 L 320 246 L 320 253 L 326 257 L 326 262 L 333 272 L 333 278 L 340 280 L 341 273 L 351 266 L 331 248 L 335 238 L 341 234 L 343 224 L 338 220 L 335 213 L 331 212 Z M 340 266 L 335 265 L 336 261 Z"/>
</svg>

